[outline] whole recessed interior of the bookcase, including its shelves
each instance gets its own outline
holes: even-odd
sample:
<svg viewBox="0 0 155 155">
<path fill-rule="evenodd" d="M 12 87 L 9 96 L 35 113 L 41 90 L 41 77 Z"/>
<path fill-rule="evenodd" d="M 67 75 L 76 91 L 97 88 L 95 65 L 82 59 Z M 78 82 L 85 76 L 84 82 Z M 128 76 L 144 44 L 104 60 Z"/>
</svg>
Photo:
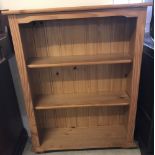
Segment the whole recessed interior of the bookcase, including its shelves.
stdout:
<svg viewBox="0 0 155 155">
<path fill-rule="evenodd" d="M 20 25 L 42 147 L 125 141 L 135 26 L 126 17 Z"/>
</svg>

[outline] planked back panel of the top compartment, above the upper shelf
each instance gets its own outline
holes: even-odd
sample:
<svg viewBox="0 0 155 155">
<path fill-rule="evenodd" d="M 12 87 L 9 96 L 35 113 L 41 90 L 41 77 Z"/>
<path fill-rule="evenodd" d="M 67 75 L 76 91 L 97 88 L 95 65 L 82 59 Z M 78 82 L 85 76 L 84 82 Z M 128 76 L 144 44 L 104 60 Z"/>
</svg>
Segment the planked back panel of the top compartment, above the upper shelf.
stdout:
<svg viewBox="0 0 155 155">
<path fill-rule="evenodd" d="M 135 18 L 41 21 L 20 25 L 26 58 L 130 53 Z"/>
</svg>

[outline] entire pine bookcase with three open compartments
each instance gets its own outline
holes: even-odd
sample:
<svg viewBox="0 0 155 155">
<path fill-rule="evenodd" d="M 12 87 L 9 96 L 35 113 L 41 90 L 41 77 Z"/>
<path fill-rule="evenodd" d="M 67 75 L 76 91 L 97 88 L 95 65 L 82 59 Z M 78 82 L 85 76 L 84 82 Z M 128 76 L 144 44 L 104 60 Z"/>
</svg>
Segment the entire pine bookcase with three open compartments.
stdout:
<svg viewBox="0 0 155 155">
<path fill-rule="evenodd" d="M 35 152 L 135 146 L 148 5 L 4 12 Z"/>
</svg>

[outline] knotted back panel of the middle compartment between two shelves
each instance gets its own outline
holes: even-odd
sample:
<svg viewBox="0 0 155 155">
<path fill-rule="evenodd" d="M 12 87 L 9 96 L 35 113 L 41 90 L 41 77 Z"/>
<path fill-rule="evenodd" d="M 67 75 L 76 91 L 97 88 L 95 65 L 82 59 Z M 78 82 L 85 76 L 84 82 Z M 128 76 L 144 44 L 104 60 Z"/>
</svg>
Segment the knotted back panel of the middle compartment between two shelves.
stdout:
<svg viewBox="0 0 155 155">
<path fill-rule="evenodd" d="M 29 70 L 32 94 L 58 95 L 94 92 L 125 92 L 126 65 L 90 65 Z"/>
</svg>

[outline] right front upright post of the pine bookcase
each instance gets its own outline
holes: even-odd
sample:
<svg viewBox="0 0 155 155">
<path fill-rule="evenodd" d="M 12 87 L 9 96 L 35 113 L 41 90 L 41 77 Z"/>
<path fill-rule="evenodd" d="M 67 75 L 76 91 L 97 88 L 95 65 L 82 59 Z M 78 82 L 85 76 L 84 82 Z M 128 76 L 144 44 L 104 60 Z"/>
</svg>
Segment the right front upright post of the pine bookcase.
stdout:
<svg viewBox="0 0 155 155">
<path fill-rule="evenodd" d="M 145 31 L 145 22 L 146 21 L 146 9 L 141 11 L 136 23 L 135 38 L 134 38 L 134 60 L 133 60 L 133 70 L 131 72 L 131 86 L 130 86 L 130 96 L 131 104 L 129 109 L 128 116 L 128 142 L 132 142 L 134 139 L 134 128 L 135 128 L 135 119 L 136 119 L 136 110 L 137 110 L 137 99 L 138 99 L 138 88 L 140 80 L 140 68 L 142 60 L 142 50 L 143 50 L 143 39 Z"/>
</svg>

